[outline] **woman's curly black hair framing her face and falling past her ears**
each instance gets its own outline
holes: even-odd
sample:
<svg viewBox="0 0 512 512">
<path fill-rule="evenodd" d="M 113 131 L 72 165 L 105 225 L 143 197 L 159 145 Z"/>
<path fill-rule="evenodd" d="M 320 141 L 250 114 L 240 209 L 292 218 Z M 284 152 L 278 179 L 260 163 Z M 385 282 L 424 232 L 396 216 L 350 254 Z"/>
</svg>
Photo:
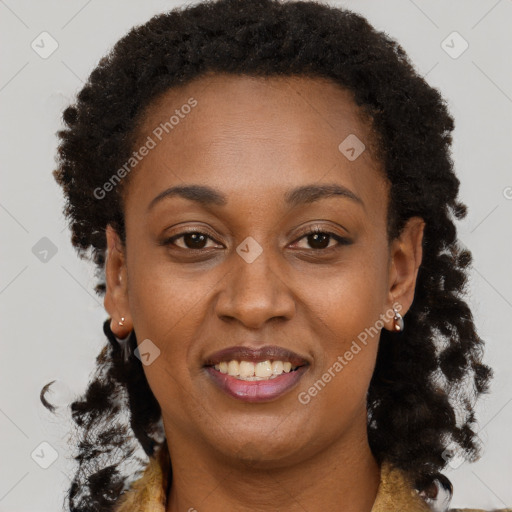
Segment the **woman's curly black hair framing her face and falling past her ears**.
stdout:
<svg viewBox="0 0 512 512">
<path fill-rule="evenodd" d="M 108 201 L 94 191 L 130 157 L 157 96 L 210 72 L 328 78 L 351 91 L 371 120 L 391 184 L 388 240 L 410 217 L 426 225 L 407 329 L 381 332 L 367 397 L 369 443 L 379 463 L 406 471 L 418 490 L 435 479 L 446 482 L 440 471 L 451 448 L 470 461 L 478 457 L 474 405 L 492 376 L 464 300 L 472 256 L 454 225 L 466 216 L 450 153 L 454 121 L 400 45 L 364 17 L 314 1 L 203 1 L 155 15 L 113 46 L 63 112 L 53 171 L 64 190 L 72 244 L 96 265 L 95 291 L 102 296 L 106 289 L 107 224 L 125 241 L 128 178 Z M 112 510 L 128 479 L 140 475 L 165 440 L 159 404 L 134 356 L 135 333 L 124 351 L 108 324 L 95 375 L 70 406 L 81 432 L 67 496 L 76 512 Z M 145 458 L 134 455 L 140 447 Z M 139 468 L 128 473 L 125 466 L 123 473 L 121 466 L 135 460 Z"/>
</svg>

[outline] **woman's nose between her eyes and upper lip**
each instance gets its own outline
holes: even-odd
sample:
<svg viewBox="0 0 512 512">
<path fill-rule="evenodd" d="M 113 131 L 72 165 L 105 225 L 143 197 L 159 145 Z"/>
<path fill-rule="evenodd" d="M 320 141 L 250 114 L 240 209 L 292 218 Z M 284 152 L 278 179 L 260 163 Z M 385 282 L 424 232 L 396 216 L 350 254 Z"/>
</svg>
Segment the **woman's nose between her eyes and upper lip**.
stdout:
<svg viewBox="0 0 512 512">
<path fill-rule="evenodd" d="M 261 328 L 271 319 L 291 319 L 295 314 L 293 293 L 277 265 L 272 265 L 271 254 L 263 251 L 251 263 L 238 254 L 234 259 L 222 280 L 215 305 L 217 316 L 224 321 L 236 319 L 251 329 Z"/>
</svg>

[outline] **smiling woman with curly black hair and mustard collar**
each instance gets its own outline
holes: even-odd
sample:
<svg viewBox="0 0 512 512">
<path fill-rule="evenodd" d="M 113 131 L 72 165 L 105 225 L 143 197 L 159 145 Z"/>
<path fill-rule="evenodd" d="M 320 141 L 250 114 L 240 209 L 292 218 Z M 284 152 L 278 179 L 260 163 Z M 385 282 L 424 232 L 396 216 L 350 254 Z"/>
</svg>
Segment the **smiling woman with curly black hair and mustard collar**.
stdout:
<svg viewBox="0 0 512 512">
<path fill-rule="evenodd" d="M 454 122 L 400 46 L 315 2 L 204 2 L 133 28 L 63 118 L 109 314 L 70 510 L 447 510 L 491 370 Z"/>
</svg>

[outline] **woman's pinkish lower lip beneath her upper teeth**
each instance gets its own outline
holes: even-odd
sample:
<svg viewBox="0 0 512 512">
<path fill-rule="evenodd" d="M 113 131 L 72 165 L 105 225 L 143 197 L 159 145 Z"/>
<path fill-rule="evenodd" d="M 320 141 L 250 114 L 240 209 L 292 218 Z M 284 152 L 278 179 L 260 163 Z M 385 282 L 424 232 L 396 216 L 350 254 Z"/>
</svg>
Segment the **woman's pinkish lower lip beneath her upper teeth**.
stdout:
<svg viewBox="0 0 512 512">
<path fill-rule="evenodd" d="M 269 380 L 240 380 L 221 373 L 212 366 L 206 370 L 213 377 L 213 382 L 228 395 L 244 402 L 270 402 L 292 389 L 307 371 L 308 365 L 297 370 L 283 373 Z"/>
</svg>

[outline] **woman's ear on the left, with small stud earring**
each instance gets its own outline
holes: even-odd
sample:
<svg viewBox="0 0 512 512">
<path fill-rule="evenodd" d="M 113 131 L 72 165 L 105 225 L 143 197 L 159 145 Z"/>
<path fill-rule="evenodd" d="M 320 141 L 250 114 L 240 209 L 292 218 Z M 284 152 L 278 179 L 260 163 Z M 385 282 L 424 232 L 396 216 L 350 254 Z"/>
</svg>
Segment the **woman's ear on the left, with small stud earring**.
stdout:
<svg viewBox="0 0 512 512">
<path fill-rule="evenodd" d="M 128 302 L 126 249 L 119 235 L 110 224 L 107 225 L 106 236 L 105 280 L 107 289 L 103 303 L 112 318 L 110 323 L 112 332 L 118 338 L 123 339 L 133 329 Z M 119 325 L 123 317 L 123 325 Z"/>
</svg>

